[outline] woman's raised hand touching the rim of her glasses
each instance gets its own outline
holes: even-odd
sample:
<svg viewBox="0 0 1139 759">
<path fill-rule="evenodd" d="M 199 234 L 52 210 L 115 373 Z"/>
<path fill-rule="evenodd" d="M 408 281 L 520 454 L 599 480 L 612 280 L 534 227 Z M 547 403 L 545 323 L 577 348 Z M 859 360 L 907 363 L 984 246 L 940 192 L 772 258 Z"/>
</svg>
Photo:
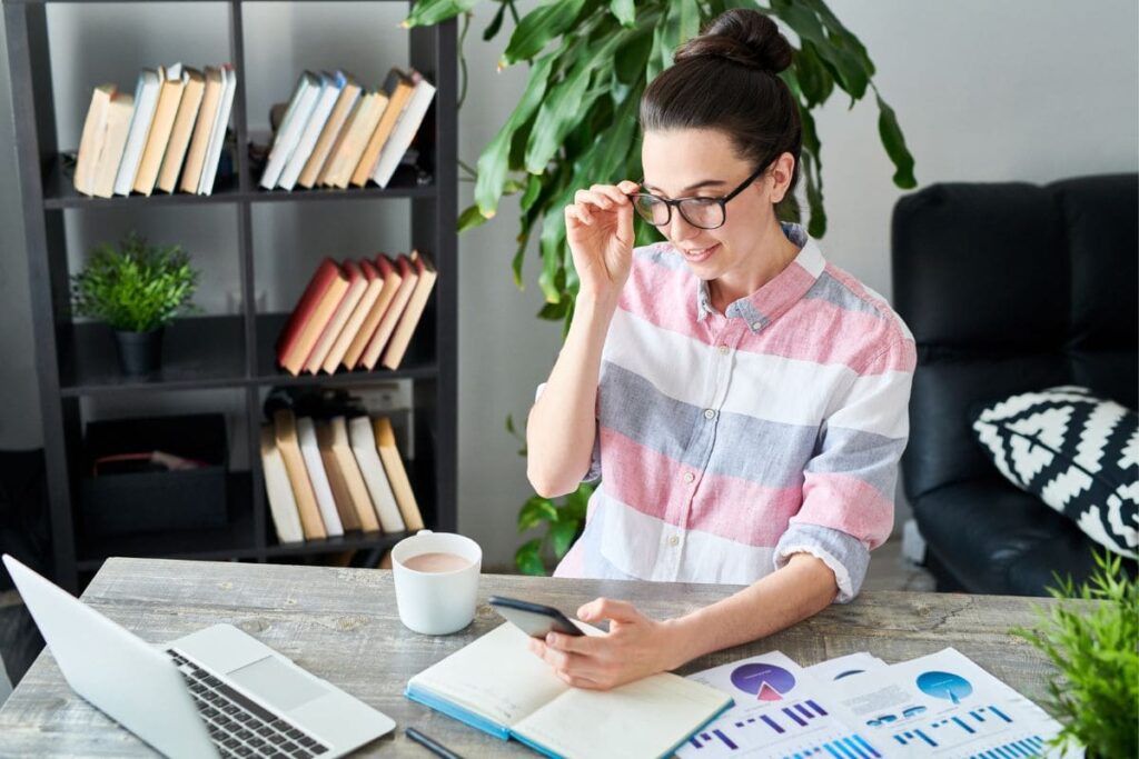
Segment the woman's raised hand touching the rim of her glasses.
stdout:
<svg viewBox="0 0 1139 759">
<path fill-rule="evenodd" d="M 625 197 L 640 185 L 595 184 L 566 206 L 566 240 L 581 281 L 579 297 L 616 300 L 633 255 L 633 206 Z"/>
</svg>

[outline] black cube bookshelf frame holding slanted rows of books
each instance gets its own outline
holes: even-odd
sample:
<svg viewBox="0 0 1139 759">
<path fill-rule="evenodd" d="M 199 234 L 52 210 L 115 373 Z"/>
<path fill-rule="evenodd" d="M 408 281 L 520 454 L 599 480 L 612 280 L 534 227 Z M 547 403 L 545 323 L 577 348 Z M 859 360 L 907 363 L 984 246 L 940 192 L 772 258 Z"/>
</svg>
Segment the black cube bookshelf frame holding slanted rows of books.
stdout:
<svg viewBox="0 0 1139 759">
<path fill-rule="evenodd" d="M 230 63 L 238 76 L 230 127 L 236 137 L 235 174 L 219 178 L 211 196 L 89 198 L 75 192 L 58 146 L 48 43 L 47 5 L 89 0 L 3 0 L 3 13 L 16 122 L 17 175 L 28 259 L 33 339 L 40 379 L 40 409 L 48 477 L 55 579 L 76 591 L 81 576 L 113 555 L 210 560 L 288 561 L 350 550 L 394 545 L 403 534 L 359 533 L 326 541 L 279 544 L 272 529 L 260 470 L 256 430 L 262 421 L 264 389 L 272 386 L 360 386 L 410 379 L 413 382 L 416 459 L 409 477 L 428 527 L 456 529 L 458 404 L 458 261 L 457 178 L 457 39 L 448 22 L 408 31 L 409 65 L 435 84 L 435 104 L 420 133 L 420 170 L 401 167 L 387 188 L 264 191 L 251 175 L 245 102 L 243 7 L 257 0 L 221 0 L 228 8 Z M 98 0 L 107 1 L 107 0 Z M 142 2 L 145 0 L 110 0 Z M 166 0 L 179 2 L 182 0 Z M 360 0 L 385 2 L 388 0 Z M 366 32 L 361 32 L 366 33 Z M 140 61 L 140 67 L 157 61 Z M 392 61 L 393 64 L 399 61 Z M 295 75 L 293 72 L 290 75 Z M 377 74 L 378 76 L 378 74 Z M 97 82 L 89 82 L 95 86 Z M 282 86 L 290 85 L 282 84 Z M 286 314 L 255 311 L 252 207 L 260 203 L 330 203 L 336 200 L 410 200 L 411 245 L 432 255 L 439 280 L 424 320 L 400 371 L 353 371 L 333 376 L 292 377 L 276 366 L 273 341 Z M 81 208 L 230 206 L 237 215 L 237 249 L 243 312 L 230 316 L 179 320 L 167 328 L 162 371 L 146 379 L 123 376 L 109 331 L 99 324 L 74 323 L 68 298 L 64 212 Z M 162 390 L 236 389 L 244 394 L 248 471 L 229 475 L 229 521 L 211 530 L 96 537 L 83 529 L 83 416 L 81 399 Z M 172 412 L 175 411 L 172 409 Z"/>
</svg>

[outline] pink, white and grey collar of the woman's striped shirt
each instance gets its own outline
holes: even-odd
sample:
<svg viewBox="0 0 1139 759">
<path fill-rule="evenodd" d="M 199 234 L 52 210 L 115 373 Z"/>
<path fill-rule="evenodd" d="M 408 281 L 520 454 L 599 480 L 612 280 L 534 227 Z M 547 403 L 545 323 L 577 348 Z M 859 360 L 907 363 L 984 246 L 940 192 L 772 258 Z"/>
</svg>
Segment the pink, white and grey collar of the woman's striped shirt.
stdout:
<svg viewBox="0 0 1139 759">
<path fill-rule="evenodd" d="M 814 286 L 826 266 L 822 251 L 801 224 L 780 222 L 780 226 L 787 239 L 802 248 L 798 255 L 770 282 L 731 303 L 723 314 L 727 319 L 745 320 L 752 332 L 761 331 L 795 305 Z M 714 313 L 708 283 L 699 280 L 696 288 L 696 320 L 703 322 Z"/>
</svg>

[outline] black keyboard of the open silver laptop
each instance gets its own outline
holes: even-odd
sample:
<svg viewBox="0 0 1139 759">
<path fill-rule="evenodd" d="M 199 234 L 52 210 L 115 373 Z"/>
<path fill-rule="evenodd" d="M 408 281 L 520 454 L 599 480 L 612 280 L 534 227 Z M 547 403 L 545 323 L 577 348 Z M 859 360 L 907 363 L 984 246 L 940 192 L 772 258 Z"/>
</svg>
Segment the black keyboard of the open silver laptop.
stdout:
<svg viewBox="0 0 1139 759">
<path fill-rule="evenodd" d="M 251 701 L 173 650 L 166 653 L 181 670 L 210 737 L 222 757 L 308 759 L 328 746 L 295 725 Z"/>
</svg>

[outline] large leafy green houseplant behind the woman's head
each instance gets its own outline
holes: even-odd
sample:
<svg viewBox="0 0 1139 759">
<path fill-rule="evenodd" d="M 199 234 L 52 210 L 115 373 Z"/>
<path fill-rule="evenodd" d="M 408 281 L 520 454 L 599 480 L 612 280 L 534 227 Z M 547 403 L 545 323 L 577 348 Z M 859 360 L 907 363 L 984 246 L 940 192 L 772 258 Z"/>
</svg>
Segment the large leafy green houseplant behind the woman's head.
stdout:
<svg viewBox="0 0 1139 759">
<path fill-rule="evenodd" d="M 780 76 L 790 88 L 803 123 L 802 175 L 808 204 L 808 231 L 826 233 L 821 143 L 812 112 L 836 90 L 851 105 L 872 93 L 878 105 L 882 145 L 894 164 L 894 183 L 916 185 L 913 158 L 906 147 L 893 109 L 874 84 L 874 64 L 866 48 L 830 11 L 823 0 L 546 0 L 519 17 L 515 0 L 497 2 L 498 11 L 483 34 L 494 38 L 506 14 L 514 32 L 500 67 L 530 64 L 526 89 L 498 134 L 483 149 L 475 181 L 475 203 L 459 218 L 470 229 L 492 218 L 503 196 L 518 195 L 522 223 L 514 257 L 515 283 L 523 284 L 523 256 L 535 233 L 541 269 L 538 284 L 546 305 L 541 319 L 564 321 L 568 328 L 577 292 L 577 277 L 566 245 L 562 208 L 580 188 L 640 176 L 640 133 L 637 114 L 645 86 L 672 64 L 673 51 L 712 18 L 730 8 L 755 8 L 781 22 L 798 38 L 790 68 Z M 420 26 L 464 15 L 460 46 L 478 0 L 421 0 L 405 25 Z M 464 65 L 464 71 L 466 66 Z M 465 86 L 465 82 L 464 82 Z M 461 98 L 460 98 L 461 101 Z M 466 168 L 466 167 L 465 167 Z M 788 196 L 778 209 L 785 221 L 803 214 Z M 638 222 L 638 242 L 655 239 L 655 230 Z M 519 528 L 547 522 L 543 538 L 526 543 L 516 556 L 524 571 L 541 571 L 543 546 L 551 536 L 580 526 L 575 504 L 581 494 L 556 504 L 527 501 Z M 536 521 L 535 521 L 536 520 Z M 555 538 L 559 555 L 568 542 Z"/>
</svg>

